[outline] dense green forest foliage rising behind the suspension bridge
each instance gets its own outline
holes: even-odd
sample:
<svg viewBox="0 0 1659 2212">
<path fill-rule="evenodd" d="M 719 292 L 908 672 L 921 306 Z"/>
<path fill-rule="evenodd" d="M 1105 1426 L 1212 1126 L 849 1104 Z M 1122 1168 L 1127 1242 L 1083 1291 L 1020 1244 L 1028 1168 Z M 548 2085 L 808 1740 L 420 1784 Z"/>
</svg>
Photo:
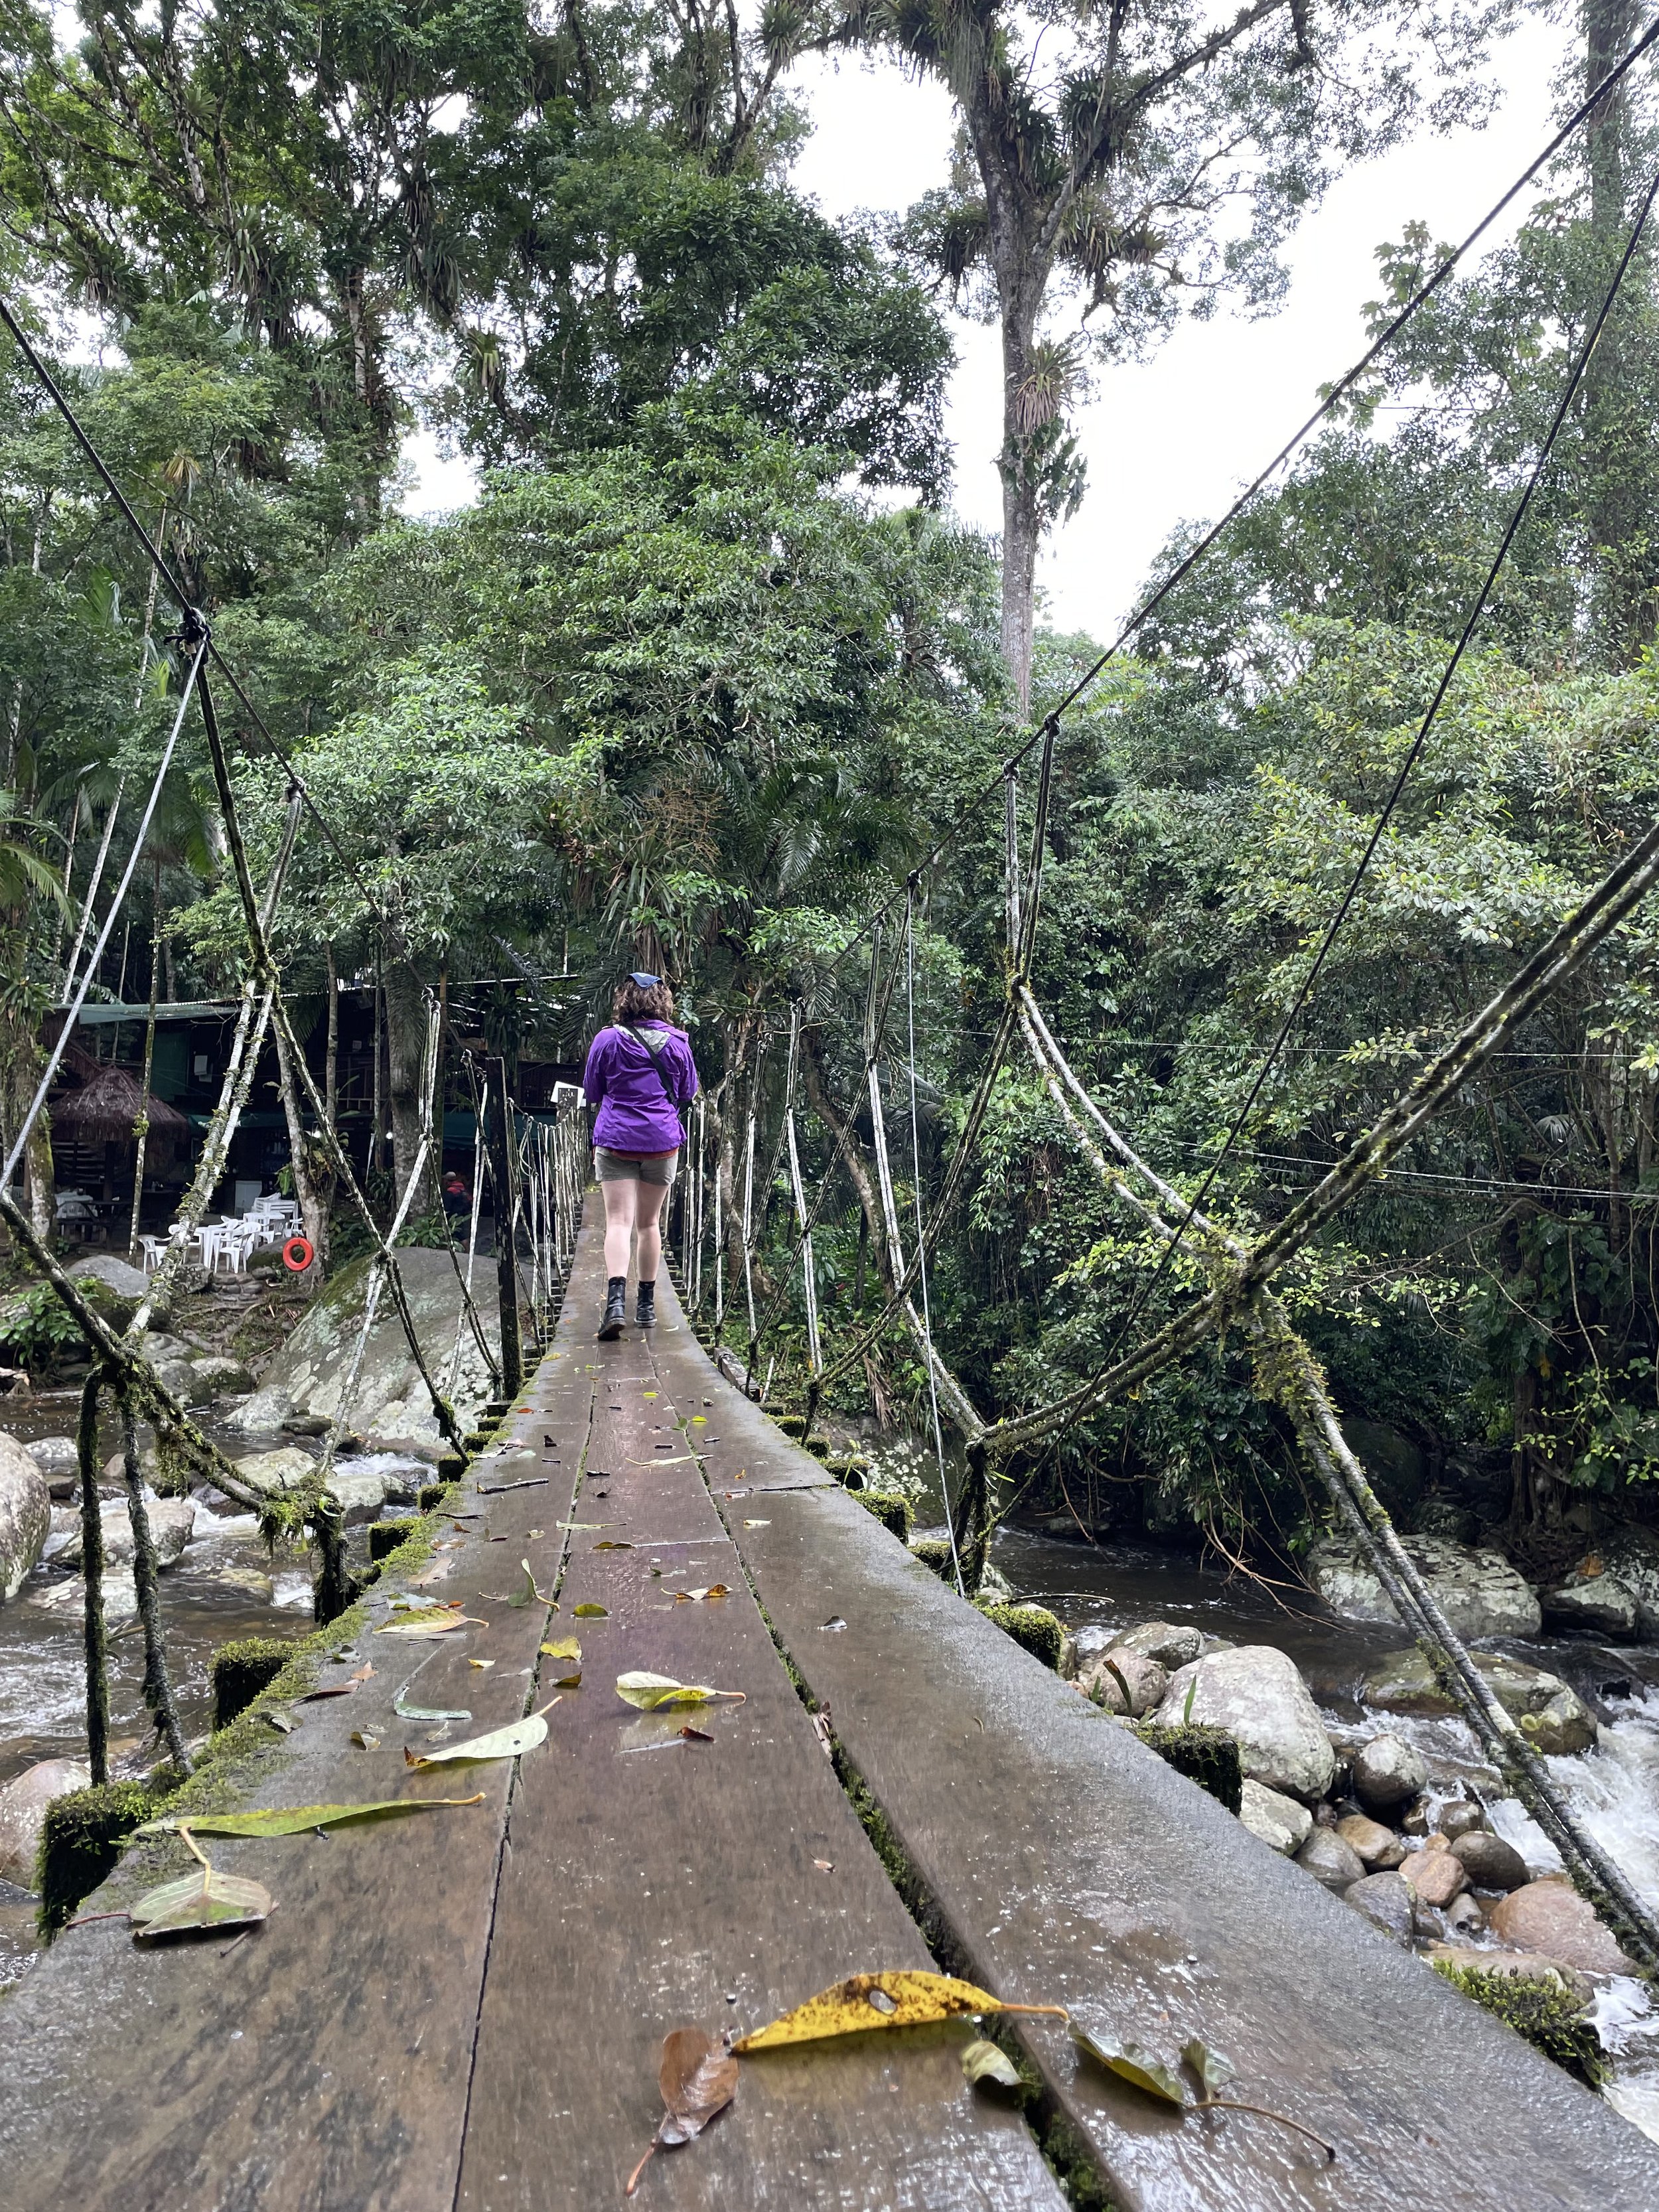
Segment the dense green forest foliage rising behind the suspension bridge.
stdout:
<svg viewBox="0 0 1659 2212">
<path fill-rule="evenodd" d="M 847 38 L 902 46 L 971 124 L 1009 27 L 984 11 L 969 82 L 951 75 L 947 13 L 768 9 L 730 42 L 699 9 L 635 0 L 573 4 L 555 29 L 504 0 L 372 15 L 217 0 L 153 22 L 84 0 L 73 44 L 27 0 L 0 15 L 4 276 L 327 825 L 301 825 L 274 945 L 307 1020 L 332 980 L 383 989 L 394 1175 L 376 1192 L 416 1144 L 427 993 L 453 991 L 493 1046 L 568 1066 L 613 973 L 664 969 L 708 1082 L 728 1232 L 757 1115 L 754 1287 L 781 1391 L 805 1365 L 774 1150 L 796 1015 L 807 1181 L 843 1135 L 852 1155 L 814 1239 L 825 1332 L 845 1340 L 878 1312 L 887 1267 L 865 920 L 889 902 L 878 1062 L 907 1245 L 1004 987 L 995 770 L 1022 728 L 1024 646 L 1011 650 L 1006 549 L 945 502 L 949 341 L 918 268 L 991 268 L 1011 312 L 995 179 L 1031 155 L 1022 221 L 1073 215 L 1026 270 L 1022 345 L 1040 343 L 1051 279 L 1110 321 L 1106 352 L 1150 343 L 1199 294 L 1265 303 L 1296 210 L 1402 128 L 1429 84 L 1416 46 L 1365 60 L 1367 29 L 1416 33 L 1416 9 L 1356 4 L 1312 33 L 1301 11 L 1267 9 L 1259 38 L 1239 29 L 1221 66 L 1183 66 L 1168 102 L 1113 139 L 1088 119 L 1079 33 L 1055 82 L 1015 102 L 1002 150 L 975 150 L 978 186 L 962 166 L 898 243 L 825 221 L 787 177 L 805 131 L 783 95 L 790 60 Z M 1447 13 L 1440 60 L 1478 53 L 1500 13 Z M 1148 18 L 1099 97 L 1166 49 L 1190 55 L 1190 33 Z M 1615 33 L 1606 7 L 1586 9 L 1568 97 L 1619 51 Z M 1332 75 L 1301 75 L 1325 58 Z M 1458 93 L 1480 97 L 1475 80 Z M 1245 144 L 1248 177 L 1194 184 L 1161 230 L 1139 204 L 1106 221 L 1121 175 L 1157 199 L 1159 179 Z M 1064 721 L 1035 991 L 1113 1119 L 1186 1192 L 1436 692 L 1650 150 L 1641 104 L 1615 102 L 1515 241 L 1438 294 L 1168 597 L 1139 657 Z M 1250 210 L 1237 250 L 1214 246 L 1230 197 Z M 1378 319 L 1427 259 L 1420 228 L 1383 250 Z M 1217 1179 L 1210 1203 L 1239 1230 L 1285 1212 L 1659 803 L 1652 321 L 1641 254 L 1314 1000 Z M 1077 489 L 1066 409 L 1082 356 L 1022 361 L 1024 442 L 1004 473 L 1035 529 Z M 0 376 L 9 1135 L 71 945 L 111 911 L 181 664 L 179 611 L 84 456 L 22 363 L 7 354 Z M 484 471 L 447 520 L 405 511 L 416 422 Z M 1093 655 L 1040 635 L 1035 708 Z M 223 688 L 221 712 L 261 874 L 288 776 Z M 1024 830 L 1031 812 L 1024 779 Z M 100 995 L 148 991 L 153 918 L 164 998 L 234 991 L 246 947 L 195 719 L 126 911 Z M 1655 951 L 1644 916 L 1283 1283 L 1343 1409 L 1416 1453 L 1396 1484 L 1407 1513 L 1444 1489 L 1548 1548 L 1586 1500 L 1628 1511 L 1659 1469 Z M 447 1079 L 453 1104 L 453 1064 Z M 49 1161 L 35 1150 L 29 1168 L 49 1206 Z M 1042 1402 L 1179 1310 L 1192 1276 L 1177 1263 L 1148 1294 L 1150 1259 L 1015 1053 L 929 1283 L 975 1405 Z M 728 1267 L 730 1316 L 732 1250 Z M 898 1329 L 832 1394 L 834 1411 L 869 1407 L 927 1418 Z M 1013 1475 L 1033 1504 L 1228 1551 L 1296 1546 L 1318 1517 L 1237 1338 Z"/>
</svg>

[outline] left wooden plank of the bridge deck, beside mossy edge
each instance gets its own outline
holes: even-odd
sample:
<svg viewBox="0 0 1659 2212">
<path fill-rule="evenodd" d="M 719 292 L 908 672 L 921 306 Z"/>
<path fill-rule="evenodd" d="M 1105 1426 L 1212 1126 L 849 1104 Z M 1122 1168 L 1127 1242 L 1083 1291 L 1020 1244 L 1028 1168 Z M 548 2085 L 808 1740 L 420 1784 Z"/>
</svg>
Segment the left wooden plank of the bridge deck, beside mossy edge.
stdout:
<svg viewBox="0 0 1659 2212">
<path fill-rule="evenodd" d="M 586 1376 L 540 1391 L 509 1422 L 533 1438 L 557 1411 L 584 1433 Z M 520 1400 L 524 1402 L 524 1400 Z M 482 1460 L 489 1471 L 502 1460 Z M 243 1803 L 356 1803 L 380 1796 L 471 1796 L 482 1805 L 341 1829 L 327 1838 L 215 1840 L 215 1865 L 252 1874 L 276 1898 L 270 1922 L 223 1942 L 139 1951 L 117 1920 L 64 1933 L 0 2006 L 0 2203 L 18 2212 L 215 2208 L 215 2212 L 451 2212 L 478 1997 L 507 1823 L 507 1765 L 414 1774 L 434 1723 L 392 1712 L 411 1697 L 467 1705 L 449 1741 L 524 1710 L 544 1608 L 504 1608 L 518 1559 L 557 1564 L 560 1540 L 533 1537 L 568 1517 L 580 1449 L 546 1489 L 462 1498 L 476 1520 L 420 1577 L 489 1628 L 440 1644 L 361 1635 L 341 1681 L 369 1661 L 352 1697 L 294 1708 L 290 1739 L 246 1776 Z M 476 1491 L 469 1480 L 465 1489 Z M 489 1535 L 502 1542 L 489 1542 Z M 542 1555 L 546 1566 L 542 1568 Z M 396 1579 L 376 1586 L 374 1619 Z M 491 1668 L 469 1668 L 489 1657 Z M 422 1666 L 425 1661 L 425 1666 Z M 380 1730 L 380 1750 L 352 1730 Z M 131 1900 L 159 1874 L 133 1860 L 84 1911 Z"/>
</svg>

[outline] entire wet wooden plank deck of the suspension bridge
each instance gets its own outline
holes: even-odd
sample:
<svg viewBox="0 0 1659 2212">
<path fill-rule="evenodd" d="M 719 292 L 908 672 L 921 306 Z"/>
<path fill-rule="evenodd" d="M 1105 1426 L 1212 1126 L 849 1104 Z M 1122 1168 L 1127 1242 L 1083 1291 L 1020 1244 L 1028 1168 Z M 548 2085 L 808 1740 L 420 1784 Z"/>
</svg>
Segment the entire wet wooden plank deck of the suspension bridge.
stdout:
<svg viewBox="0 0 1659 2212">
<path fill-rule="evenodd" d="M 230 1949 L 139 1953 L 117 1920 L 60 1938 L 0 2004 L 4 2212 L 615 2201 L 668 2028 L 754 2026 L 843 1973 L 931 1962 L 776 1644 L 830 1708 L 949 1964 L 1168 2051 L 1201 2033 L 1241 2095 L 1340 2146 L 1325 2168 L 1267 2121 L 1183 2124 L 1029 2022 L 1051 2110 L 1117 2205 L 1659 2203 L 1655 2146 L 962 1606 L 717 1378 L 672 1296 L 653 1343 L 595 1347 L 599 1276 L 586 1232 L 555 1352 L 422 1577 L 489 1628 L 361 1635 L 376 1674 L 296 1708 L 241 1783 L 261 1805 L 440 1794 L 442 1770 L 403 1765 L 429 1723 L 392 1712 L 420 1659 L 411 1697 L 471 1708 L 451 1728 L 467 1734 L 551 1697 L 562 1666 L 538 1646 L 575 1632 L 584 1683 L 549 1743 L 515 1776 L 442 1781 L 480 1807 L 215 1845 L 279 1900 Z M 520 1559 L 555 1615 L 504 1604 Z M 730 1595 L 675 1601 L 710 1584 Z M 575 1619 L 582 1601 L 606 1615 Z M 622 1705 L 624 1668 L 745 1701 L 703 1719 L 712 1743 L 686 1741 Z M 352 1745 L 365 1728 L 380 1750 Z M 128 1860 L 88 1909 L 148 1878 Z M 745 2062 L 734 2106 L 646 2168 L 639 2203 L 1057 2212 L 1026 2124 L 964 2086 L 960 2039 Z"/>
</svg>

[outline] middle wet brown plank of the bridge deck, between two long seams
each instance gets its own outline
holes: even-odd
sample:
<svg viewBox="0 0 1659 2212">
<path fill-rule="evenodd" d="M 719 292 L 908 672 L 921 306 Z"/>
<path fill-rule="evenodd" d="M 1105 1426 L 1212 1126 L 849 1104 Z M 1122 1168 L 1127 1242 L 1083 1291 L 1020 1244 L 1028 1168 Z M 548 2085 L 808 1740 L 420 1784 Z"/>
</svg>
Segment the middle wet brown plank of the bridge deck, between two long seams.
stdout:
<svg viewBox="0 0 1659 2212">
<path fill-rule="evenodd" d="M 568 1310 L 568 1305 L 566 1305 Z M 637 1358 L 637 1354 L 635 1354 Z M 659 1391 L 646 1398 L 646 1387 Z M 608 1394 L 599 1394 L 606 1400 Z M 617 1391 L 606 1453 L 641 1460 L 675 1400 L 661 1378 Z M 624 1447 L 633 1444 L 628 1451 Z M 637 1551 L 595 1553 L 573 1531 L 560 1632 L 582 1637 L 582 1688 L 549 1717 L 553 1756 L 526 1761 L 478 2035 L 462 2163 L 465 2212 L 591 2212 L 615 2203 L 661 2106 L 657 2059 L 675 2026 L 750 2028 L 845 1973 L 929 1966 L 922 1938 L 852 1814 L 779 1661 L 734 1551 L 653 1544 L 686 1509 L 684 1464 L 608 1482 L 606 1517 Z M 597 1517 L 577 1504 L 575 1520 Z M 703 1491 L 706 1502 L 706 1491 Z M 675 1601 L 679 1559 L 723 1599 Z M 657 1559 L 664 1568 L 653 1577 Z M 608 1608 L 575 1619 L 580 1597 Z M 637 1714 L 624 1668 L 745 1692 Z M 1006 2106 L 975 2095 L 964 2028 L 860 2035 L 743 2062 L 734 2106 L 646 2170 L 646 2205 L 998 2205 L 1060 2212 L 1062 2197 Z"/>
</svg>

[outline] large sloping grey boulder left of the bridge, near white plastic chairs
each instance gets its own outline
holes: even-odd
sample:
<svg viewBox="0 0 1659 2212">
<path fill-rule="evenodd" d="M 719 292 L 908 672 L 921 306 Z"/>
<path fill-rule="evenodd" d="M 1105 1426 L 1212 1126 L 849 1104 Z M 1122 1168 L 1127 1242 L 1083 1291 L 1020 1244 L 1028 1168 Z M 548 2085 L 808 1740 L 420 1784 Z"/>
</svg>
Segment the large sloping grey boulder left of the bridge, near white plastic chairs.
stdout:
<svg viewBox="0 0 1659 2212">
<path fill-rule="evenodd" d="M 451 1259 L 447 1252 L 405 1245 L 398 1250 L 398 1272 L 427 1367 L 442 1371 L 447 1383 L 449 1358 L 456 1347 L 456 1325 L 460 1323 L 460 1287 Z M 438 1436 L 431 1400 L 409 1358 L 409 1343 L 392 1298 L 380 1301 L 349 1405 L 341 1407 L 341 1394 L 345 1391 L 345 1378 L 363 1329 L 367 1281 L 367 1259 L 354 1261 L 336 1276 L 330 1276 L 301 1325 L 270 1363 L 263 1387 L 232 1416 L 234 1427 L 276 1427 L 270 1418 L 257 1422 L 252 1413 L 261 1398 L 276 1402 L 276 1394 L 283 1394 L 288 1405 L 276 1420 L 288 1413 L 321 1413 L 325 1420 L 343 1416 L 345 1427 L 356 1436 L 420 1440 Z M 478 1305 L 484 1340 L 489 1343 L 498 1334 L 493 1267 L 480 1267 L 473 1274 L 473 1303 Z M 462 1427 L 473 1425 L 489 1396 L 489 1369 L 478 1352 L 473 1332 L 462 1327 L 460 1365 L 451 1389 Z"/>
</svg>

